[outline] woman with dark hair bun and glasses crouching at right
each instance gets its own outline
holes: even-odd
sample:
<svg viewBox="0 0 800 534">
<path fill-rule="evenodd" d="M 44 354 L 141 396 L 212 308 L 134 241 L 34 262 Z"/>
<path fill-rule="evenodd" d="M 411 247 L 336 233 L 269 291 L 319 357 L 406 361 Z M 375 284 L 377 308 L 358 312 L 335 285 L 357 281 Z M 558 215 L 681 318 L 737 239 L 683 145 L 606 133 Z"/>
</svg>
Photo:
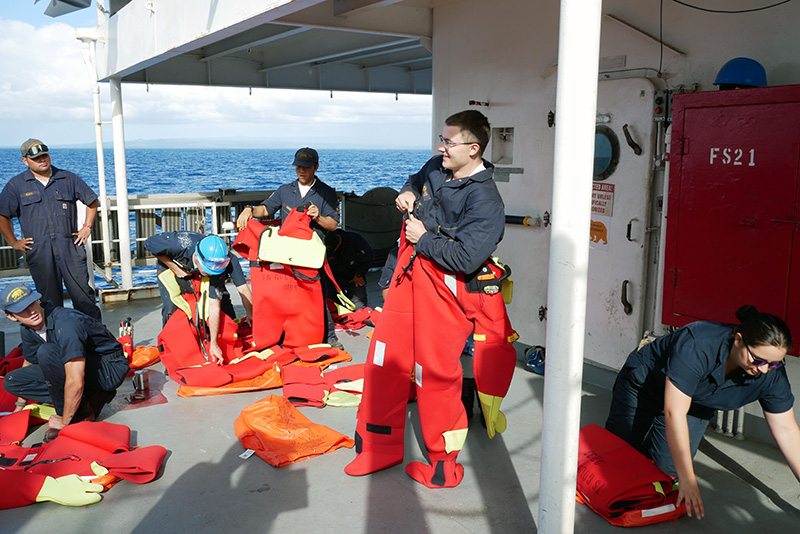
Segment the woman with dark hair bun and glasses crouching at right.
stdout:
<svg viewBox="0 0 800 534">
<path fill-rule="evenodd" d="M 800 428 L 784 368 L 789 327 L 755 307 L 739 325 L 699 321 L 659 337 L 629 356 L 614 383 L 606 428 L 680 480 L 678 504 L 705 514 L 692 459 L 715 410 L 755 400 L 794 476 L 800 480 Z"/>
</svg>

